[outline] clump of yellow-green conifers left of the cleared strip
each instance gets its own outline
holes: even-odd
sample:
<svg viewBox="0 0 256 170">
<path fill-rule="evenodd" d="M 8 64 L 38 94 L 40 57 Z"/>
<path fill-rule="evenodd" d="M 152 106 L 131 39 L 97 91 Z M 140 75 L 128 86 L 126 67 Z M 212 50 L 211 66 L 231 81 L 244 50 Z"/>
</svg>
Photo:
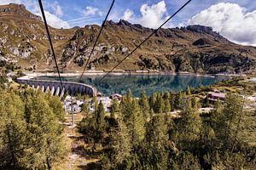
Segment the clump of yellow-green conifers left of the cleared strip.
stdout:
<svg viewBox="0 0 256 170">
<path fill-rule="evenodd" d="M 62 128 L 41 92 L 25 91 L 22 99 L 3 91 L 0 99 L 0 167 L 44 169 L 66 156 Z M 3 155 L 2 155 L 3 154 Z"/>
</svg>

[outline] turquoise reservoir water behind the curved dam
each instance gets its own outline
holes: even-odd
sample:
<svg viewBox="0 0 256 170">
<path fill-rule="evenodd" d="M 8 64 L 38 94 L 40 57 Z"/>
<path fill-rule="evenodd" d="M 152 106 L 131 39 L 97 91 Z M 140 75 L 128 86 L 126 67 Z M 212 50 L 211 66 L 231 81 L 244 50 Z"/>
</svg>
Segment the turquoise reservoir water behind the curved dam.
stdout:
<svg viewBox="0 0 256 170">
<path fill-rule="evenodd" d="M 125 94 L 131 89 L 132 94 L 139 97 L 142 90 L 148 95 L 154 92 L 181 91 L 189 86 L 197 88 L 199 86 L 211 85 L 220 82 L 223 77 L 204 77 L 195 75 L 123 75 L 109 76 L 98 82 L 100 76 L 84 77 L 82 82 L 95 86 L 98 92 L 104 95 Z M 58 80 L 58 77 L 38 77 L 43 80 Z M 79 82 L 79 77 L 62 77 L 63 81 Z"/>
</svg>

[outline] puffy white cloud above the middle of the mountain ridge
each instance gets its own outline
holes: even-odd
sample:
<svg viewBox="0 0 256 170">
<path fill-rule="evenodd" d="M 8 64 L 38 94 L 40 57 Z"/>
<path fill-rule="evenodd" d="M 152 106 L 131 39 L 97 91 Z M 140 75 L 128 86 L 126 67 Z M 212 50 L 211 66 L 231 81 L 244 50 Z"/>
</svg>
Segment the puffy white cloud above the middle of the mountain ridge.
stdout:
<svg viewBox="0 0 256 170">
<path fill-rule="evenodd" d="M 141 6 L 140 13 L 141 16 L 136 17 L 130 9 L 126 9 L 122 19 L 150 28 L 157 28 L 169 17 L 165 1 L 160 1 L 152 6 L 145 3 Z M 166 26 L 171 26 L 171 24 Z"/>
</svg>

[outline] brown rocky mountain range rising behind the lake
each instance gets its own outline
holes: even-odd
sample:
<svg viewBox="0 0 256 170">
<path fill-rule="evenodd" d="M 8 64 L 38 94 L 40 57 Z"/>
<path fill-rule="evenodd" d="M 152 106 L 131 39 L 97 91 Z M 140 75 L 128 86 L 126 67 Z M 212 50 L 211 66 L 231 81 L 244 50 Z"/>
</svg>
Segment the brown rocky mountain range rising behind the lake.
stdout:
<svg viewBox="0 0 256 170">
<path fill-rule="evenodd" d="M 96 40 L 99 26 L 50 27 L 58 63 L 63 70 L 81 71 Z M 125 20 L 106 23 L 90 67 L 110 69 L 154 30 Z M 53 69 L 49 42 L 40 17 L 24 5 L 0 6 L 0 60 L 23 68 Z M 207 26 L 161 29 L 119 69 L 218 73 L 253 71 L 256 48 L 230 42 Z"/>
</svg>

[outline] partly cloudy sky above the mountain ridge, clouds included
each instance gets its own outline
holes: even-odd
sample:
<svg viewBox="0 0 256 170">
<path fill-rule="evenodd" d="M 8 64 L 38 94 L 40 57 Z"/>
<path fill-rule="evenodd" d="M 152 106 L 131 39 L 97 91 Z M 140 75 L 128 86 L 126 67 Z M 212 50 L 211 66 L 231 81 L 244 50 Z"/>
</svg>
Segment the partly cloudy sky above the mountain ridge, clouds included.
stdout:
<svg viewBox="0 0 256 170">
<path fill-rule="evenodd" d="M 42 0 L 47 21 L 55 28 L 101 25 L 112 0 Z M 157 28 L 187 0 L 115 0 L 108 20 L 128 20 Z M 41 15 L 37 0 L 0 0 L 22 3 Z M 256 46 L 256 0 L 192 0 L 165 27 L 212 26 L 232 42 Z"/>
</svg>

